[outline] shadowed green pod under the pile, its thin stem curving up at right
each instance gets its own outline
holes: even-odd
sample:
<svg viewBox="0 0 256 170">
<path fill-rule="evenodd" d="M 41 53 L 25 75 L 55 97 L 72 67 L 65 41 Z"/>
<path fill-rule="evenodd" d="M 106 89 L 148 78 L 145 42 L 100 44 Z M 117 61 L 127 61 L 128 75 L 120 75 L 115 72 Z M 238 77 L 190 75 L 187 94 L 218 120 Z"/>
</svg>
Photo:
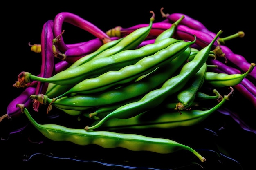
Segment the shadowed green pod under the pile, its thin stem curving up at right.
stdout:
<svg viewBox="0 0 256 170">
<path fill-rule="evenodd" d="M 117 129 L 146 129 L 146 128 L 177 128 L 180 126 L 192 126 L 202 122 L 209 117 L 212 113 L 218 110 L 223 104 L 229 100 L 230 95 L 233 93 L 233 88 L 228 95 L 214 107 L 209 110 L 184 110 L 182 115 L 174 110 L 167 109 L 154 109 L 144 113 L 140 113 L 135 117 L 128 119 L 113 118 L 106 121 L 102 128 L 109 130 Z"/>
</svg>

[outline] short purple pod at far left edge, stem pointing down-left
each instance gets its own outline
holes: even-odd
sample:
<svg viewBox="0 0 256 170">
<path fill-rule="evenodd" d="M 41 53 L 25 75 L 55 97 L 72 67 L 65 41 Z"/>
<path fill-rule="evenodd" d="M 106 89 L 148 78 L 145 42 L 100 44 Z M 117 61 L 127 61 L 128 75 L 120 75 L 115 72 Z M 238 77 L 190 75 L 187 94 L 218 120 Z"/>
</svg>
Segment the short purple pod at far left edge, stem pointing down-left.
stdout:
<svg viewBox="0 0 256 170">
<path fill-rule="evenodd" d="M 23 103 L 26 107 L 29 107 L 32 104 L 29 96 L 35 94 L 35 92 L 36 87 L 27 87 L 18 97 L 13 99 L 7 106 L 7 113 L 0 117 L 0 122 L 5 118 L 11 119 L 22 114 L 21 110 L 16 107 L 16 104 Z"/>
</svg>

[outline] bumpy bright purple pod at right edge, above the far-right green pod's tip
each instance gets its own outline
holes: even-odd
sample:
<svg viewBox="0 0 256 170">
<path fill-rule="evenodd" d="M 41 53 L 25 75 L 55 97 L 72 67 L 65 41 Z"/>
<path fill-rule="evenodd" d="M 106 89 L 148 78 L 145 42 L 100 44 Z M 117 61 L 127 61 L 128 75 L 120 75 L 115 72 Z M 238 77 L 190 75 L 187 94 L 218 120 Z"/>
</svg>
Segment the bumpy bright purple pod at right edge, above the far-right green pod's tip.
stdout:
<svg viewBox="0 0 256 170">
<path fill-rule="evenodd" d="M 228 61 L 236 65 L 238 68 L 240 68 L 244 72 L 248 70 L 251 63 L 247 62 L 245 57 L 243 57 L 242 55 L 233 53 L 233 51 L 231 51 L 231 49 L 229 49 L 227 46 L 220 45 L 220 48 L 222 49 L 223 53 L 225 53 L 225 56 Z M 256 69 L 253 69 L 253 71 L 249 74 L 249 76 L 256 79 Z"/>
</svg>

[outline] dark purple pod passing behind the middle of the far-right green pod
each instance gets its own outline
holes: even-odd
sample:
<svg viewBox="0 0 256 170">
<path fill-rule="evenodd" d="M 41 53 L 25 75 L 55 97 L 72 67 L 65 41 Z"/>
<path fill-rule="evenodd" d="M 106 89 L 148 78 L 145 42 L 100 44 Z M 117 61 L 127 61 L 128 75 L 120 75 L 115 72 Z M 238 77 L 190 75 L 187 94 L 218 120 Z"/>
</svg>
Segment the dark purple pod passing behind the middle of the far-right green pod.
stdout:
<svg viewBox="0 0 256 170">
<path fill-rule="evenodd" d="M 218 68 L 211 68 L 213 71 L 217 73 L 226 73 L 226 74 L 237 74 L 240 71 L 237 69 L 227 66 L 226 64 L 218 61 L 218 60 L 209 60 L 211 64 L 217 65 Z M 234 86 L 243 96 L 245 96 L 249 101 L 252 102 L 254 107 L 256 108 L 256 86 L 249 81 L 249 79 L 244 78 L 240 84 Z"/>
</svg>

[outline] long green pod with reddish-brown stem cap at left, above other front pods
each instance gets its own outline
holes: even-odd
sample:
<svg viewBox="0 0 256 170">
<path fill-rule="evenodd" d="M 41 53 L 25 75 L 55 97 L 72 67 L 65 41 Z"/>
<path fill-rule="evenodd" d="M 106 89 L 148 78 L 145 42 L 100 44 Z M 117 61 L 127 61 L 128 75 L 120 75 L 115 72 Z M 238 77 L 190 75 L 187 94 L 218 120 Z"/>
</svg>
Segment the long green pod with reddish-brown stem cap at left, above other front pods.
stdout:
<svg viewBox="0 0 256 170">
<path fill-rule="evenodd" d="M 58 85 L 75 85 L 84 79 L 97 77 L 107 71 L 117 71 L 124 66 L 135 64 L 140 59 L 155 54 L 157 51 L 165 49 L 171 44 L 178 42 L 175 38 L 166 38 L 157 43 L 148 44 L 135 50 L 125 50 L 117 54 L 113 54 L 107 57 L 96 58 L 77 66 L 75 68 L 65 69 L 52 77 L 40 77 L 32 75 L 29 72 L 23 72 L 23 78 L 25 80 L 40 81 L 47 83 L 54 83 Z M 27 81 L 25 81 L 27 82 Z"/>
</svg>

